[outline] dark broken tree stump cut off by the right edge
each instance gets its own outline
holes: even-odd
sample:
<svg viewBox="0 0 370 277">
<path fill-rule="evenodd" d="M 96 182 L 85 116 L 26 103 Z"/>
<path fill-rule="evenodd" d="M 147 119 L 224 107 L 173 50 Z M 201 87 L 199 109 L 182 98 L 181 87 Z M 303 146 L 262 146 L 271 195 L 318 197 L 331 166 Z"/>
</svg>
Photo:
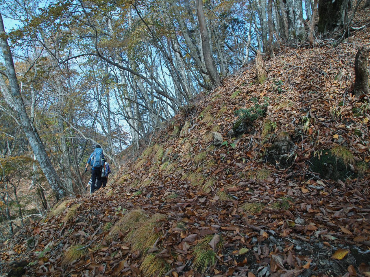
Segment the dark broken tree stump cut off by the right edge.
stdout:
<svg viewBox="0 0 370 277">
<path fill-rule="evenodd" d="M 354 62 L 354 95 L 369 95 L 369 68 L 367 67 L 367 58 L 369 57 L 369 48 L 362 47 L 357 51 L 356 60 Z"/>
</svg>

